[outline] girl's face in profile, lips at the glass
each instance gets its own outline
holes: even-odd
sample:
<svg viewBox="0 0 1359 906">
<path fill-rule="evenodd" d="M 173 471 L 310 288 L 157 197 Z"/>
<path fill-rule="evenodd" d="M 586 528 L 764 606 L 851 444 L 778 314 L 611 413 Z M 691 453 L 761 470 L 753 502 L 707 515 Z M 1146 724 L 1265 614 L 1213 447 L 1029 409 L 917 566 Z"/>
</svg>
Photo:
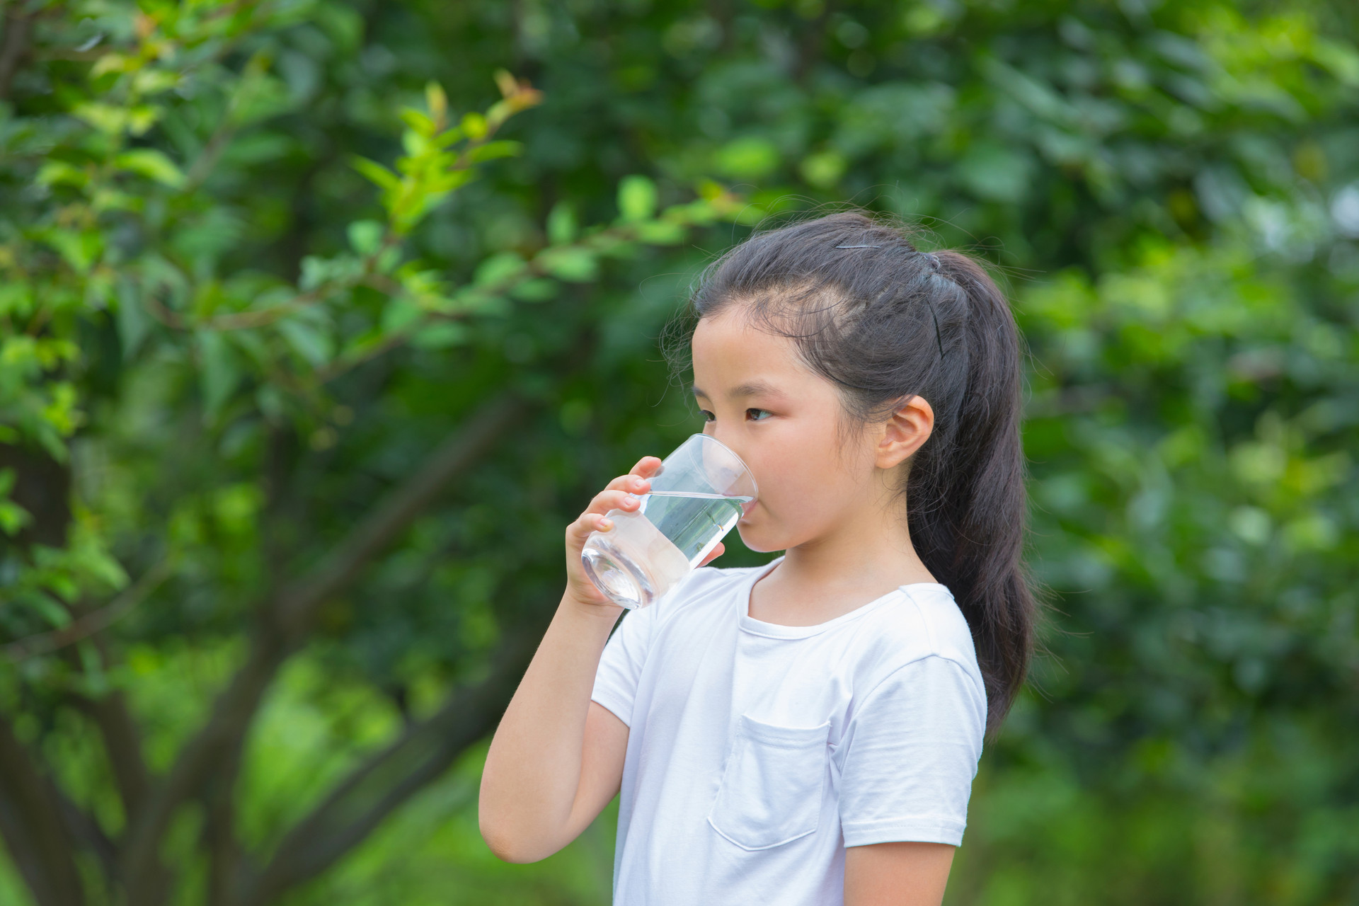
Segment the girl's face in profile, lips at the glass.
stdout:
<svg viewBox="0 0 1359 906">
<path fill-rule="evenodd" d="M 737 523 L 747 547 L 796 547 L 881 501 L 872 432 L 840 447 L 840 393 L 800 361 L 792 340 L 750 326 L 731 306 L 699 321 L 692 352 L 703 432 L 735 451 L 760 486 Z"/>
</svg>

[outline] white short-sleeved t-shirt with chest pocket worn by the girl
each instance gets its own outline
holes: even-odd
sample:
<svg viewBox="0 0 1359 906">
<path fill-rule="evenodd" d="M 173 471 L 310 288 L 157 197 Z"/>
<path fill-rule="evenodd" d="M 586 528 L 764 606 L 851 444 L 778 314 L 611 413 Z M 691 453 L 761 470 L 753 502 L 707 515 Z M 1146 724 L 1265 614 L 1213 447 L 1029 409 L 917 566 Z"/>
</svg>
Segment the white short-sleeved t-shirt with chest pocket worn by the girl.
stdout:
<svg viewBox="0 0 1359 906">
<path fill-rule="evenodd" d="M 844 902 L 844 848 L 958 845 L 987 694 L 938 583 L 815 626 L 749 615 L 765 566 L 693 570 L 609 638 L 628 724 L 617 906 Z"/>
</svg>

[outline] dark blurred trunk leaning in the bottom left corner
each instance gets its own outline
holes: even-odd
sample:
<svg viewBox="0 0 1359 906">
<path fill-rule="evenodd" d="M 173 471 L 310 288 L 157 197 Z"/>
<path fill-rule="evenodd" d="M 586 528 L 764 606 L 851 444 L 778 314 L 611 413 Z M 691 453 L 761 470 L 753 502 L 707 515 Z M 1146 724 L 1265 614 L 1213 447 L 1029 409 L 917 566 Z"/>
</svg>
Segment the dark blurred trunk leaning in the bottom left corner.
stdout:
<svg viewBox="0 0 1359 906">
<path fill-rule="evenodd" d="M 0 717 L 0 835 L 38 906 L 84 902 L 63 804 Z"/>
</svg>

